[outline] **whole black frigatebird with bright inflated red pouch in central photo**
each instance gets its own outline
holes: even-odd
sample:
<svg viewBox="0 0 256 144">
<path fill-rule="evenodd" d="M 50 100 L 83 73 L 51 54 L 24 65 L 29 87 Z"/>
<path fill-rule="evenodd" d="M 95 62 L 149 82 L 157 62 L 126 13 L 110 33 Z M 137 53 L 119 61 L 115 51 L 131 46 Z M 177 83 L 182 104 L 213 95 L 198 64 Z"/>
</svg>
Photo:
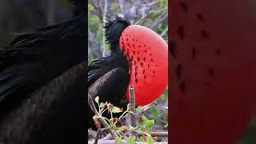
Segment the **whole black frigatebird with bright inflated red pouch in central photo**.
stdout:
<svg viewBox="0 0 256 144">
<path fill-rule="evenodd" d="M 129 102 L 127 87 L 133 85 L 137 106 L 153 102 L 166 90 L 168 82 L 166 42 L 154 31 L 130 25 L 124 18 L 106 22 L 104 28 L 111 54 L 88 67 L 88 94 L 98 96 L 101 102 L 122 106 Z M 94 114 L 89 111 L 92 127 Z"/>
</svg>

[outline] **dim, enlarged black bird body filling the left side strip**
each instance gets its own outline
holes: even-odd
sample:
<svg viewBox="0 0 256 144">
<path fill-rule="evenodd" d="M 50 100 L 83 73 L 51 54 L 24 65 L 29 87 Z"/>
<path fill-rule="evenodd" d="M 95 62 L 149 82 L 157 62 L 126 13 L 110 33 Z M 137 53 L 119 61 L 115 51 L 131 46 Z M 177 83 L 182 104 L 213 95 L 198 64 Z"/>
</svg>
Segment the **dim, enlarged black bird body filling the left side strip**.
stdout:
<svg viewBox="0 0 256 144">
<path fill-rule="evenodd" d="M 86 141 L 85 10 L 0 49 L 0 143 Z"/>
</svg>

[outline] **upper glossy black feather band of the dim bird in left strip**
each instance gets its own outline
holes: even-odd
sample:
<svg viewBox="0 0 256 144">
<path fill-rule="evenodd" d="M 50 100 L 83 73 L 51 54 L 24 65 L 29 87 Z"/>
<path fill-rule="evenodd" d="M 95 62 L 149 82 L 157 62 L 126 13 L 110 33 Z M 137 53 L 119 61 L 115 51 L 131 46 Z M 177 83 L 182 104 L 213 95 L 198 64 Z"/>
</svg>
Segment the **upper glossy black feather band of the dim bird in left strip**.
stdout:
<svg viewBox="0 0 256 144">
<path fill-rule="evenodd" d="M 23 34 L 0 49 L 0 102 L 24 95 L 85 61 L 86 17 Z"/>
</svg>

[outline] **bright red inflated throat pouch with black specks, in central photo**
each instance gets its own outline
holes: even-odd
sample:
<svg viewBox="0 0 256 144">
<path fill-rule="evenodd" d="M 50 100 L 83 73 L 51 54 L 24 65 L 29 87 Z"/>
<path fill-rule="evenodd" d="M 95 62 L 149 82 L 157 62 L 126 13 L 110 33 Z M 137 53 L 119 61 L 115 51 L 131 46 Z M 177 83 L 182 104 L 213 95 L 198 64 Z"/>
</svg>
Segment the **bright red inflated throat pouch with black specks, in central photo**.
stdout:
<svg viewBox="0 0 256 144">
<path fill-rule="evenodd" d="M 119 39 L 120 49 L 130 62 L 130 83 L 135 103 L 154 102 L 168 84 L 168 46 L 163 38 L 144 26 L 128 26 Z M 129 101 L 129 90 L 126 90 Z"/>
</svg>

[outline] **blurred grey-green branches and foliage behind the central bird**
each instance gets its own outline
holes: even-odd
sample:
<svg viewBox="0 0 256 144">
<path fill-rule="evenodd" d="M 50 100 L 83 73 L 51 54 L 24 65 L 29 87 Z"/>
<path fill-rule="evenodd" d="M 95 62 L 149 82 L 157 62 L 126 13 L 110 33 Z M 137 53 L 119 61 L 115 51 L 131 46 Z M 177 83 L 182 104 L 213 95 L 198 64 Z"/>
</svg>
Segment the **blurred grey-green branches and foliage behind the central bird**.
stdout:
<svg viewBox="0 0 256 144">
<path fill-rule="evenodd" d="M 146 26 L 162 36 L 167 42 L 168 0 L 89 0 L 88 2 L 88 63 L 95 58 L 110 54 L 109 46 L 103 38 L 102 23 L 117 16 L 126 18 L 130 23 Z M 166 111 L 168 106 L 167 90 L 146 114 L 154 119 L 155 130 L 167 130 Z"/>
</svg>

